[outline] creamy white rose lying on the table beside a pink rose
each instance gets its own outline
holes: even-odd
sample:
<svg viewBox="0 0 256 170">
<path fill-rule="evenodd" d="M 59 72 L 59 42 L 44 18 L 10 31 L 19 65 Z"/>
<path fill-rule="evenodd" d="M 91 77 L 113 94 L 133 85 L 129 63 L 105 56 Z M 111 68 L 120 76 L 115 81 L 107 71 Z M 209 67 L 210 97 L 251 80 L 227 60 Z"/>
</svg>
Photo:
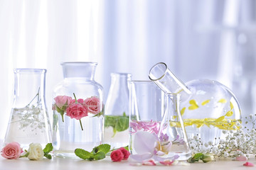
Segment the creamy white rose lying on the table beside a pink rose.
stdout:
<svg viewBox="0 0 256 170">
<path fill-rule="evenodd" d="M 39 143 L 31 143 L 29 145 L 29 149 L 28 149 L 28 159 L 31 160 L 39 160 L 43 158 L 44 152 L 42 149 L 41 144 Z"/>
</svg>

